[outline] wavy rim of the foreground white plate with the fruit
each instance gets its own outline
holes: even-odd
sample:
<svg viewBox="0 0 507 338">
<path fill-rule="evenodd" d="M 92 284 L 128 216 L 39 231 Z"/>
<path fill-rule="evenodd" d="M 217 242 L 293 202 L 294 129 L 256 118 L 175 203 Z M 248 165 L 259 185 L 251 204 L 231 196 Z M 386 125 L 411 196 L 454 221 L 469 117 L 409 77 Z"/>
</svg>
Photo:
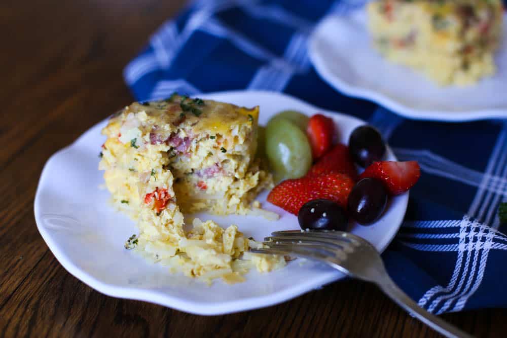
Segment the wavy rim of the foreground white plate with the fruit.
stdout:
<svg viewBox="0 0 507 338">
<path fill-rule="evenodd" d="M 250 95 L 271 95 L 273 97 L 279 97 L 284 96 L 289 100 L 297 101 L 298 104 L 303 104 L 307 106 L 308 108 L 311 108 L 312 110 L 324 112 L 324 114 L 333 114 L 333 115 L 339 115 L 341 117 L 346 117 L 350 119 L 355 119 L 360 122 L 365 121 L 356 118 L 351 115 L 347 115 L 338 111 L 332 111 L 332 110 L 326 110 L 326 109 L 320 109 L 310 103 L 307 103 L 301 99 L 295 98 L 293 96 L 287 95 L 285 93 L 280 92 L 274 92 L 274 91 L 247 91 L 247 90 L 238 90 L 238 91 L 224 91 L 224 92 L 213 92 L 213 93 L 205 93 L 200 94 L 201 97 L 209 98 L 211 96 L 221 96 L 221 95 L 244 95 L 245 93 L 248 93 Z M 311 111 L 311 110 L 310 110 Z M 111 283 L 102 282 L 101 280 L 93 277 L 90 275 L 86 270 L 82 270 L 78 268 L 74 262 L 65 254 L 64 250 L 61 249 L 61 247 L 58 245 L 57 241 L 53 240 L 52 236 L 49 235 L 48 229 L 43 227 L 41 224 L 43 224 L 43 221 L 41 219 L 42 214 L 40 211 L 40 199 L 41 197 L 41 187 L 42 183 L 46 181 L 46 177 L 48 174 L 48 165 L 49 163 L 56 158 L 57 156 L 64 154 L 66 152 L 71 151 L 71 149 L 75 146 L 79 145 L 80 140 L 82 140 L 88 133 L 91 133 L 94 131 L 95 128 L 97 128 L 100 124 L 104 123 L 108 118 L 98 122 L 97 124 L 93 125 L 89 129 L 87 129 L 83 134 L 81 134 L 73 143 L 65 146 L 64 148 L 60 149 L 56 153 L 54 153 L 45 163 L 44 168 L 41 172 L 41 176 L 39 178 L 39 182 L 37 185 L 37 191 L 35 192 L 35 198 L 34 198 L 34 216 L 35 216 L 35 223 L 37 224 L 37 229 L 39 233 L 41 234 L 42 238 L 44 239 L 46 245 L 50 249 L 50 251 L 53 253 L 55 258 L 58 260 L 58 262 L 61 264 L 61 266 L 71 275 L 78 278 L 80 281 L 85 283 L 86 285 L 90 286 L 91 288 L 95 289 L 96 291 L 103 293 L 108 296 L 113 296 L 117 298 L 122 299 L 133 299 L 137 301 L 144 301 L 149 303 L 158 304 L 161 306 L 165 306 L 168 308 L 176 309 L 178 311 L 183 311 L 186 313 L 196 314 L 196 315 L 224 315 L 224 314 L 230 314 L 240 311 L 248 311 L 248 310 L 255 310 L 259 308 L 269 307 L 276 304 L 280 304 L 283 302 L 286 302 L 290 299 L 296 298 L 302 294 L 305 294 L 315 288 L 318 288 L 320 286 L 329 284 L 334 281 L 341 280 L 345 278 L 345 275 L 343 274 L 337 274 L 335 271 L 330 271 L 331 273 L 324 273 L 320 275 L 318 278 L 314 278 L 308 282 L 305 283 L 299 283 L 295 285 L 294 287 L 287 288 L 283 291 L 278 291 L 275 293 L 270 293 L 267 295 L 262 296 L 253 296 L 243 299 L 238 299 L 234 301 L 225 301 L 225 302 L 212 302 L 212 303 L 198 303 L 195 301 L 188 301 L 186 299 L 177 298 L 170 296 L 162 291 L 153 290 L 153 289 L 144 289 L 142 287 L 124 287 L 124 286 L 118 286 Z M 389 148 L 390 149 L 390 148 Z M 392 151 L 391 151 L 392 153 Z M 394 156 L 394 155 L 393 155 Z M 380 252 L 383 252 L 387 246 L 391 243 L 391 241 L 394 239 L 396 233 L 401 227 L 401 224 L 403 222 L 403 219 L 405 218 L 405 213 L 407 211 L 407 205 L 409 200 L 409 192 L 400 195 L 399 197 L 401 199 L 403 212 L 401 212 L 398 215 L 399 221 L 395 226 L 393 226 L 392 234 L 387 240 L 384 242 L 382 246 L 380 246 Z M 318 285 L 316 285 L 318 284 Z"/>
</svg>

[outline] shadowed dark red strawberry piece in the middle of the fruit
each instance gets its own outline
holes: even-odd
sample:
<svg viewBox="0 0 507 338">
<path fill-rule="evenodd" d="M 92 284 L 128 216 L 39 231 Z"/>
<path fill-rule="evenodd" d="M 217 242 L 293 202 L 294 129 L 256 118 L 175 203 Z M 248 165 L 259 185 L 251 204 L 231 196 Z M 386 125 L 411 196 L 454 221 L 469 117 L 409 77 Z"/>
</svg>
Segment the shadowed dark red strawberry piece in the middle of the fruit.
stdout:
<svg viewBox="0 0 507 338">
<path fill-rule="evenodd" d="M 357 171 L 350 157 L 348 146 L 342 143 L 335 145 L 310 168 L 307 175 L 319 175 L 328 172 L 339 172 L 349 175 L 354 181 L 357 180 Z"/>
</svg>

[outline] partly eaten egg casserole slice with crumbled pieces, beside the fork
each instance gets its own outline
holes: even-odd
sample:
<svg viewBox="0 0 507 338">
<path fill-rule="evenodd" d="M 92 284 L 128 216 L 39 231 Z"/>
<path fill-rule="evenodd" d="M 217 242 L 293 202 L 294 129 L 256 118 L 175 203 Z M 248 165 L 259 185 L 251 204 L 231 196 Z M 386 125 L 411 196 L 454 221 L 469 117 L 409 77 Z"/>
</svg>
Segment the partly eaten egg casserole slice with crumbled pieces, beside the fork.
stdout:
<svg viewBox="0 0 507 338">
<path fill-rule="evenodd" d="M 114 205 L 137 221 L 139 235 L 125 247 L 207 281 L 239 282 L 248 267 L 282 267 L 283 257 L 245 252 L 261 244 L 237 226 L 199 219 L 187 226 L 183 215 L 272 216 L 254 201 L 273 185 L 255 158 L 258 116 L 259 107 L 177 94 L 117 112 L 102 130 L 107 139 L 99 170 Z"/>
</svg>

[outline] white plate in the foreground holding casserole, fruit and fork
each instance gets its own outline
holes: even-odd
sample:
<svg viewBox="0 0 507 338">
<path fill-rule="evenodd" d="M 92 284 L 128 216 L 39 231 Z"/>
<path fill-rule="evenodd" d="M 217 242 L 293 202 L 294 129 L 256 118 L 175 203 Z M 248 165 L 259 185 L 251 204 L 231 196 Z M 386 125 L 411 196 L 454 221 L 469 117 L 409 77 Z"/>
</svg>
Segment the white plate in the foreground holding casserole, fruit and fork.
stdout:
<svg viewBox="0 0 507 338">
<path fill-rule="evenodd" d="M 298 99 L 271 92 L 226 92 L 202 95 L 247 107 L 261 106 L 261 124 L 282 109 L 296 109 L 308 115 L 322 111 Z M 356 118 L 332 114 L 342 141 L 363 124 Z M 227 285 L 215 281 L 208 287 L 183 275 L 171 275 L 167 268 L 144 261 L 124 249 L 125 240 L 137 233 L 134 222 L 108 205 L 109 193 L 99 190 L 103 183 L 97 170 L 98 153 L 104 137 L 100 134 L 106 121 L 95 125 L 76 142 L 53 155 L 46 163 L 35 195 L 35 220 L 49 248 L 71 274 L 107 295 L 139 299 L 180 311 L 219 315 L 265 307 L 336 281 L 343 275 L 314 262 L 300 265 L 289 262 L 284 269 L 267 274 L 250 272 L 247 281 Z M 388 149 L 388 159 L 395 160 Z M 264 201 L 266 193 L 260 198 Z M 382 218 L 370 227 L 353 226 L 352 232 L 366 238 L 382 251 L 394 237 L 403 220 L 408 193 L 393 198 Z M 262 240 L 277 230 L 299 229 L 296 216 L 264 204 L 281 214 L 278 221 L 253 216 L 219 217 L 222 226 L 239 225 L 246 237 Z"/>
</svg>

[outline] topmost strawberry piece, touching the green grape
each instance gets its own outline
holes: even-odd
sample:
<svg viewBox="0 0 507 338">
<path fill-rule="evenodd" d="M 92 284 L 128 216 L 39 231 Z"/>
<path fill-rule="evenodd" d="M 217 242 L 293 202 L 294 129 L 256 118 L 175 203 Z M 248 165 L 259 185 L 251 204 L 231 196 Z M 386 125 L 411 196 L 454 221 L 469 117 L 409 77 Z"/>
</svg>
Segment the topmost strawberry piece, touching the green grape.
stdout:
<svg viewBox="0 0 507 338">
<path fill-rule="evenodd" d="M 310 118 L 306 135 L 310 141 L 314 160 L 317 160 L 331 148 L 334 133 L 335 123 L 332 119 L 322 114 L 316 114 Z"/>
</svg>

